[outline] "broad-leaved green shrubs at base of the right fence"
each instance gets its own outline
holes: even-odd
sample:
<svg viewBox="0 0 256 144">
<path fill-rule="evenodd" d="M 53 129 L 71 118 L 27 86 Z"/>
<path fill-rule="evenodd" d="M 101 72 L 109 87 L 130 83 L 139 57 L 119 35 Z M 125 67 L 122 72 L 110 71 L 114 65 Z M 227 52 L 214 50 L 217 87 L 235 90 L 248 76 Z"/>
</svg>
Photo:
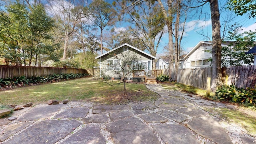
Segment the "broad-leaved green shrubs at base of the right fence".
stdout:
<svg viewBox="0 0 256 144">
<path fill-rule="evenodd" d="M 256 89 L 255 88 L 237 88 L 234 84 L 230 86 L 222 85 L 217 88 L 216 96 L 220 100 L 236 102 L 255 106 L 256 104 Z"/>
</svg>

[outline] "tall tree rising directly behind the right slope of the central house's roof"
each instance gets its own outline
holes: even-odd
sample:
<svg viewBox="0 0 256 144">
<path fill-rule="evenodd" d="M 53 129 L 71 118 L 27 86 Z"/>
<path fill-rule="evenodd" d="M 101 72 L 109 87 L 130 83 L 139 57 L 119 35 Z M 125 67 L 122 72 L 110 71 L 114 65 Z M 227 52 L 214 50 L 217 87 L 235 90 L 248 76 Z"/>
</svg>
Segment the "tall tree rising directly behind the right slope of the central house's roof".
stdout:
<svg viewBox="0 0 256 144">
<path fill-rule="evenodd" d="M 128 22 L 131 36 L 136 38 L 140 45 L 152 55 L 156 56 L 160 40 L 164 34 L 165 21 L 160 6 L 154 1 L 147 1 L 138 4 L 128 12 Z M 155 69 L 153 61 L 153 70 Z"/>
</svg>

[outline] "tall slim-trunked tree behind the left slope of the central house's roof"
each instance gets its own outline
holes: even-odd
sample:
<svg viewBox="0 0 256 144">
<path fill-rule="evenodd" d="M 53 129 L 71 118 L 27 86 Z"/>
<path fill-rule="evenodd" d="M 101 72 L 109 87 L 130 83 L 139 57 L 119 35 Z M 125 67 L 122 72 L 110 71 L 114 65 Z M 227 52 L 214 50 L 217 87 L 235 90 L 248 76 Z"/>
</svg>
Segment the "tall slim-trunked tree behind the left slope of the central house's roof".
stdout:
<svg viewBox="0 0 256 144">
<path fill-rule="evenodd" d="M 112 8 L 112 5 L 104 0 L 94 0 L 90 3 L 89 8 L 93 14 L 90 20 L 100 28 L 100 49 L 101 54 L 103 53 L 103 30 L 106 26 L 112 26 L 114 24 L 114 18 L 116 17 L 116 10 Z"/>
</svg>

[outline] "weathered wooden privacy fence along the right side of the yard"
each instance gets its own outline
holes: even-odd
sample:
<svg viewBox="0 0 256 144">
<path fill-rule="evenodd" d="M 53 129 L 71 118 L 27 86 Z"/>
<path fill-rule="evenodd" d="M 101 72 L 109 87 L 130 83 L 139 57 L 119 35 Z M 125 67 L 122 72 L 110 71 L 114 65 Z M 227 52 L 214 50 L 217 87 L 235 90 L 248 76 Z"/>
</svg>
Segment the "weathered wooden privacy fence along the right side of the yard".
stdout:
<svg viewBox="0 0 256 144">
<path fill-rule="evenodd" d="M 168 75 L 168 69 L 162 70 L 162 74 Z M 207 77 L 212 78 L 212 68 L 181 68 L 178 69 L 176 82 L 195 86 L 206 90 Z M 174 78 L 174 73 L 172 73 Z M 238 88 L 256 86 L 256 66 L 230 66 L 222 68 L 222 82 L 226 85 L 235 84 Z"/>
</svg>

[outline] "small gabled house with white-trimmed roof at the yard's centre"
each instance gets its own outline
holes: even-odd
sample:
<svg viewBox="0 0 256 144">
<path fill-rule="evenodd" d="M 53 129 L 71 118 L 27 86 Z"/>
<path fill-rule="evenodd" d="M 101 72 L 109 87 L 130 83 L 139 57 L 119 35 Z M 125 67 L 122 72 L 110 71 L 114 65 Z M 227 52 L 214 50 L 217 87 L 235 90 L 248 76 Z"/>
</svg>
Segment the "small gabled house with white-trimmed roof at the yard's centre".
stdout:
<svg viewBox="0 0 256 144">
<path fill-rule="evenodd" d="M 124 58 L 124 56 L 127 58 Z M 122 44 L 96 57 L 96 59 L 98 58 L 100 60 L 100 77 L 121 78 L 122 76 L 116 72 L 120 71 L 119 64 L 121 64 L 123 60 L 127 60 L 128 57 L 136 59 L 131 59 L 131 65 L 128 65 L 129 68 L 132 68 L 132 70 L 144 70 L 145 72 L 152 70 L 152 61 L 156 59 L 156 57 L 129 44 Z M 127 78 L 132 78 L 132 74 L 129 74 Z"/>
</svg>

